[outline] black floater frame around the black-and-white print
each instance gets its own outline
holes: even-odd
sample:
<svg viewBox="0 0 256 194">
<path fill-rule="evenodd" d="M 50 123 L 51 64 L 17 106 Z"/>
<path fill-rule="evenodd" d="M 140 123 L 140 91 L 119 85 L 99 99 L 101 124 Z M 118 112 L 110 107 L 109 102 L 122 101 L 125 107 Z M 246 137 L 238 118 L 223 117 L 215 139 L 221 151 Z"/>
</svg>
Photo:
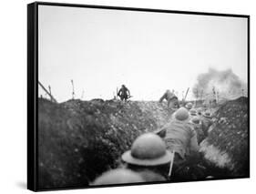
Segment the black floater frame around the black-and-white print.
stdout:
<svg viewBox="0 0 256 194">
<path fill-rule="evenodd" d="M 220 13 L 204 13 L 190 12 L 177 10 L 163 9 L 148 9 L 134 7 L 118 7 L 105 5 L 77 5 L 77 4 L 62 4 L 35 2 L 27 5 L 27 189 L 34 191 L 56 190 L 56 189 L 91 189 L 105 187 L 120 187 L 145 184 L 160 184 L 167 183 L 166 181 L 150 182 L 150 183 L 129 183 L 129 184 L 113 184 L 108 186 L 89 186 L 89 187 L 68 187 L 68 188 L 53 188 L 42 189 L 38 187 L 38 5 L 51 6 L 68 6 L 68 7 L 85 7 L 95 9 L 108 10 L 124 10 L 135 12 L 156 12 L 170 14 L 185 14 L 185 15 L 212 15 L 212 16 L 228 16 L 247 18 L 248 35 L 247 35 L 247 58 L 248 58 L 248 153 L 250 153 L 250 15 L 235 15 L 235 14 L 220 14 Z M 250 161 L 250 155 L 248 156 Z M 250 163 L 248 163 L 248 176 L 236 177 L 234 179 L 250 178 Z M 223 178 L 230 179 L 230 178 Z M 199 180 L 214 180 L 213 179 L 198 179 Z M 182 182 L 186 182 L 182 181 Z"/>
</svg>

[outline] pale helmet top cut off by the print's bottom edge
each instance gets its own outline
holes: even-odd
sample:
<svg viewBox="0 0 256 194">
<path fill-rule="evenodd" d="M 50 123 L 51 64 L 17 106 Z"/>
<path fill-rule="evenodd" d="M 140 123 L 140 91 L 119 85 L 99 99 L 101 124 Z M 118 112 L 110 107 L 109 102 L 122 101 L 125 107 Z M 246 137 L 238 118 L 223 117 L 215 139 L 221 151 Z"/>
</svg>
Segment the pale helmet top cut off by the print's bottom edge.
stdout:
<svg viewBox="0 0 256 194">
<path fill-rule="evenodd" d="M 110 185 L 144 181 L 145 180 L 142 179 L 137 172 L 126 168 L 117 168 L 103 173 L 100 177 L 95 179 L 91 185 Z"/>
</svg>

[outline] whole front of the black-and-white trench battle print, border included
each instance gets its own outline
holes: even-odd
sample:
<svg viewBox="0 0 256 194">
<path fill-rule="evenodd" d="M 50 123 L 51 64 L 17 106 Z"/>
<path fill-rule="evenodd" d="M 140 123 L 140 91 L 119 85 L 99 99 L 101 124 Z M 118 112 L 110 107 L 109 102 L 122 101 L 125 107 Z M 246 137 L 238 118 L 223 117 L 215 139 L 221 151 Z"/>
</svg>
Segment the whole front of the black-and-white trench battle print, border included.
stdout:
<svg viewBox="0 0 256 194">
<path fill-rule="evenodd" d="M 36 10 L 36 189 L 250 177 L 249 15 Z"/>
</svg>

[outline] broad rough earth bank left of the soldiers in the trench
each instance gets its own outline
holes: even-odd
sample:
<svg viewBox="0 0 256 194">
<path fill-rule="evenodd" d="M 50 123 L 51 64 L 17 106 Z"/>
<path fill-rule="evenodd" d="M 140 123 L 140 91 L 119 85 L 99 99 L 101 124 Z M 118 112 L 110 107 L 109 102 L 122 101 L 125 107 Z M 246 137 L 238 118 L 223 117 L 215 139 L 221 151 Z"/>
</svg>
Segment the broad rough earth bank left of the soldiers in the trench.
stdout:
<svg viewBox="0 0 256 194">
<path fill-rule="evenodd" d="M 158 102 L 69 100 L 38 102 L 39 188 L 87 186 L 138 135 L 162 127 L 172 114 Z"/>
</svg>

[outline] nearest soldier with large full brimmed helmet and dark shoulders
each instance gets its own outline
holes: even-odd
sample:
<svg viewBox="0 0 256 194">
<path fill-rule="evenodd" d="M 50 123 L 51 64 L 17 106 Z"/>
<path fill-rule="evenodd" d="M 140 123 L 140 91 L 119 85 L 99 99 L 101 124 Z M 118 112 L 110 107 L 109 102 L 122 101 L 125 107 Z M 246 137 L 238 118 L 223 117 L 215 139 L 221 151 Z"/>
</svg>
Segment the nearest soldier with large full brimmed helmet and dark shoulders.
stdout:
<svg viewBox="0 0 256 194">
<path fill-rule="evenodd" d="M 131 149 L 122 155 L 126 168 L 132 169 L 146 181 L 163 181 L 169 178 L 171 153 L 164 141 L 154 133 L 135 139 Z"/>
</svg>

